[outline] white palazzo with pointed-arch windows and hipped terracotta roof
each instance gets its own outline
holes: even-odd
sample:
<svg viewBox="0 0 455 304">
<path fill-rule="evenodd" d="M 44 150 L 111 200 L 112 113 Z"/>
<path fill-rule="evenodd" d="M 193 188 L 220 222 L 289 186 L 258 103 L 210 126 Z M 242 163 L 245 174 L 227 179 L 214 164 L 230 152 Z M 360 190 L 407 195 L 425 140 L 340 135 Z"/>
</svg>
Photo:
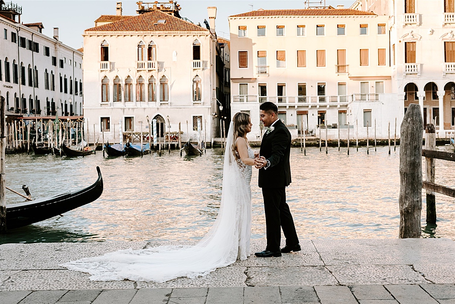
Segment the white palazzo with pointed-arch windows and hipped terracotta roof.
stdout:
<svg viewBox="0 0 455 304">
<path fill-rule="evenodd" d="M 96 136 L 118 142 L 120 132 L 148 132 L 148 121 L 184 132 L 183 140 L 219 134 L 225 106 L 216 73 L 220 48 L 216 8 L 208 8 L 210 30 L 179 16 L 175 2 L 138 3 L 136 16 L 103 15 L 84 31 L 84 117 Z M 221 61 L 222 63 L 222 61 Z M 222 67 L 221 67 L 222 70 Z M 216 115 L 216 116 L 215 116 Z M 142 123 L 141 123 L 142 122 Z M 218 135 L 219 136 L 219 135 Z"/>
</svg>

